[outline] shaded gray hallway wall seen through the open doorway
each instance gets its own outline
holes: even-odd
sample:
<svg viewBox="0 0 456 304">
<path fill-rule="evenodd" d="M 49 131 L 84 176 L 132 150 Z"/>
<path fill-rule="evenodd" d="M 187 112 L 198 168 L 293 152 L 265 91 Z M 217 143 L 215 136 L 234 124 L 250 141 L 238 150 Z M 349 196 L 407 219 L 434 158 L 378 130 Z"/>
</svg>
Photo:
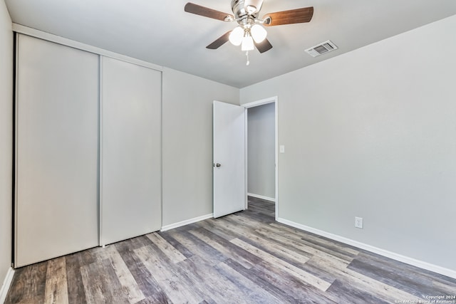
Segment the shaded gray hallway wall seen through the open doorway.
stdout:
<svg viewBox="0 0 456 304">
<path fill-rule="evenodd" d="M 247 110 L 247 192 L 276 197 L 275 104 Z"/>
</svg>

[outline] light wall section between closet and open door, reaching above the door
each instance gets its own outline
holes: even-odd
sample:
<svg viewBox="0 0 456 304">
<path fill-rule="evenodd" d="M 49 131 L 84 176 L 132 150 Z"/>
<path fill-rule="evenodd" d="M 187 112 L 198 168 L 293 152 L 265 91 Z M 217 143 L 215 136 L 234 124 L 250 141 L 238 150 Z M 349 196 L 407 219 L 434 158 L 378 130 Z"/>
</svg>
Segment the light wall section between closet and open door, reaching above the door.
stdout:
<svg viewBox="0 0 456 304">
<path fill-rule="evenodd" d="M 213 100 L 239 105 L 239 89 L 163 69 L 163 226 L 212 214 Z"/>
</svg>

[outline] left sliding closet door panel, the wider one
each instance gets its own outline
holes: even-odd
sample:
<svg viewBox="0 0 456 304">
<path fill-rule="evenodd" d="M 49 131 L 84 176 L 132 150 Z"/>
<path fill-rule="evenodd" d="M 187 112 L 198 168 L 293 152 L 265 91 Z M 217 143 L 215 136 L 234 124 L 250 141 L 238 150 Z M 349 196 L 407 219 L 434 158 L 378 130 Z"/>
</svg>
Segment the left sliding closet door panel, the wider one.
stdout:
<svg viewBox="0 0 456 304">
<path fill-rule="evenodd" d="M 98 56 L 18 39 L 16 267 L 98 245 Z"/>
</svg>

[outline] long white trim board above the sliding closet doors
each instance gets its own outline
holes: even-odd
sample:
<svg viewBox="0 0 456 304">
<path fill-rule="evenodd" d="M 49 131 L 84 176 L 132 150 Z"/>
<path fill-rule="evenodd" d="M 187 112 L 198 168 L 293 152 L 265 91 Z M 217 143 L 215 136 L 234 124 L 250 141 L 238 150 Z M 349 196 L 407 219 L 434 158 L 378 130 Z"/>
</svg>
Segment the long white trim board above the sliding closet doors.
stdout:
<svg viewBox="0 0 456 304">
<path fill-rule="evenodd" d="M 133 63 L 133 64 L 136 64 L 136 65 L 141 65 L 141 66 L 144 66 L 145 68 L 152 68 L 153 70 L 163 71 L 163 67 L 162 66 L 156 65 L 154 63 L 149 63 L 147 61 L 142 61 L 140 59 L 136 59 L 136 58 L 128 57 L 128 56 L 121 55 L 121 54 L 118 54 L 118 53 L 114 53 L 114 52 L 111 52 L 111 51 L 107 51 L 107 50 L 105 50 L 103 48 L 97 48 L 96 46 L 90 46 L 90 45 L 88 45 L 86 43 L 73 41 L 73 40 L 68 39 L 68 38 L 63 38 L 61 36 L 53 35 L 51 33 L 38 31 L 35 28 L 29 28 L 27 26 L 22 26 L 21 24 L 13 23 L 12 28 L 13 28 L 13 31 L 15 31 L 17 33 L 23 33 L 24 35 L 28 35 L 28 36 L 32 36 L 32 37 L 35 37 L 35 38 L 40 38 L 40 39 L 43 39 L 43 40 L 55 42 L 55 43 L 58 43 L 58 44 L 62 44 L 63 46 L 70 46 L 71 48 L 78 48 L 79 50 L 82 50 L 82 51 L 88 51 L 90 53 L 95 53 L 95 54 L 98 54 L 98 55 L 102 55 L 102 56 L 106 56 L 106 57 L 110 57 L 110 58 L 115 58 L 115 59 L 118 59 L 120 61 L 126 61 L 126 62 Z"/>
</svg>

